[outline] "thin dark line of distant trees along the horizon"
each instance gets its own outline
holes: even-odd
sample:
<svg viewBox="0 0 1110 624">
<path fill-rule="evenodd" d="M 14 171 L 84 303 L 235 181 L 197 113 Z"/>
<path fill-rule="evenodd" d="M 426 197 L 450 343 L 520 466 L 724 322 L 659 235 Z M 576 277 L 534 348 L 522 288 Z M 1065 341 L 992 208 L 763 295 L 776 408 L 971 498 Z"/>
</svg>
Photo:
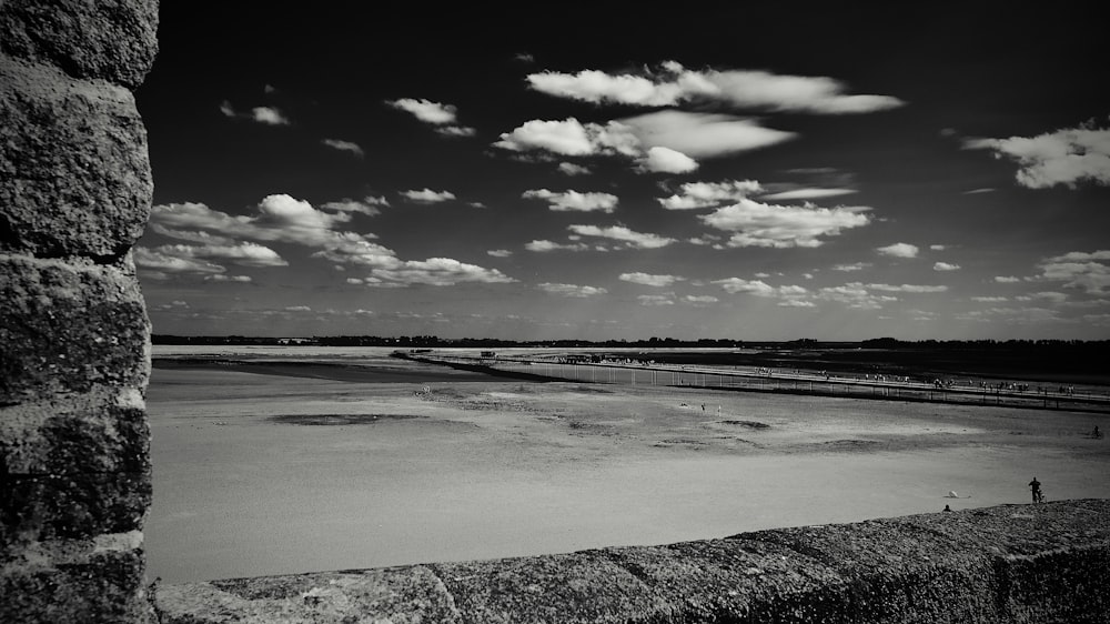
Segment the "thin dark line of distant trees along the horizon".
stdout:
<svg viewBox="0 0 1110 624">
<path fill-rule="evenodd" d="M 254 345 L 320 345 L 320 346 L 394 346 L 394 348 L 630 348 L 630 349 L 682 349 L 682 348 L 726 348 L 726 349 L 880 349 L 880 350 L 1015 350 L 1041 351 L 1067 350 L 1084 353 L 1107 352 L 1110 341 L 1083 340 L 920 340 L 904 341 L 894 338 L 877 338 L 857 342 L 830 342 L 815 339 L 790 341 L 749 341 L 733 339 L 678 340 L 674 338 L 649 338 L 647 340 L 501 340 L 492 338 L 448 339 L 434 335 L 327 335 L 312 338 L 273 338 L 244 335 L 170 335 L 153 334 L 154 344 L 254 344 Z"/>
</svg>

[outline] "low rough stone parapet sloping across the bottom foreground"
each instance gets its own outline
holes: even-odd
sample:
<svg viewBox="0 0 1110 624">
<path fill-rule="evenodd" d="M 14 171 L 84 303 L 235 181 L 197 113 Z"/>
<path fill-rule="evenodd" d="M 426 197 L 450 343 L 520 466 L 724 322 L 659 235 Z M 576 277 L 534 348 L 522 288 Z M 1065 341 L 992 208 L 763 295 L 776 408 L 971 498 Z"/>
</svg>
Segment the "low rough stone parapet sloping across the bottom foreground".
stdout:
<svg viewBox="0 0 1110 624">
<path fill-rule="evenodd" d="M 1108 622 L 1110 501 L 161 587 L 163 624 Z"/>
</svg>

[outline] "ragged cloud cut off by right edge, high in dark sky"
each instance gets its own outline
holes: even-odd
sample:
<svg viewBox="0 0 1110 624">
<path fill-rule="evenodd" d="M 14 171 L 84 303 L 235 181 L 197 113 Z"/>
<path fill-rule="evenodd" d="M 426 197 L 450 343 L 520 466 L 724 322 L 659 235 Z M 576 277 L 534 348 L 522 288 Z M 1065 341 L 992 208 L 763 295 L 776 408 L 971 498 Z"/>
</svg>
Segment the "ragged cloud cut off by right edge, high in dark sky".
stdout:
<svg viewBox="0 0 1110 624">
<path fill-rule="evenodd" d="M 1094 120 L 1037 137 L 966 139 L 963 148 L 1017 162 L 1018 184 L 1029 189 L 1074 189 L 1084 181 L 1110 185 L 1110 128 L 1097 128 Z"/>
</svg>

